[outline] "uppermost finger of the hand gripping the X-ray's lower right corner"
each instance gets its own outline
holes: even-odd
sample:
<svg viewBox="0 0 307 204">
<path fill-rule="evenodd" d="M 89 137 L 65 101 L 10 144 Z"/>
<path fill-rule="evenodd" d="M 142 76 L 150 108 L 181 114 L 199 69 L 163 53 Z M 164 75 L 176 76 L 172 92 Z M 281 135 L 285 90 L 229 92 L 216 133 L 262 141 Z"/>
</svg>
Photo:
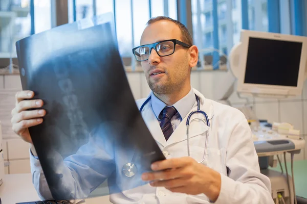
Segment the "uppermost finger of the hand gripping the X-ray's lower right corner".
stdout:
<svg viewBox="0 0 307 204">
<path fill-rule="evenodd" d="M 191 157 L 173 158 L 152 163 L 151 169 L 153 171 L 161 171 L 165 169 L 180 168 L 191 165 L 193 162 L 195 161 Z"/>
</svg>

